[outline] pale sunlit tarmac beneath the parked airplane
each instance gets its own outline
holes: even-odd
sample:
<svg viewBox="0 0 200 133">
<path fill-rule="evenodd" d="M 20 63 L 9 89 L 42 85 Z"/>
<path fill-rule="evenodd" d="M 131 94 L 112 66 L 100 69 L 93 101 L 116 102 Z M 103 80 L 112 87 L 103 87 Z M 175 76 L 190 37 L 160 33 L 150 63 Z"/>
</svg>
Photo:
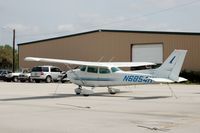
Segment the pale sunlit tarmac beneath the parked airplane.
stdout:
<svg viewBox="0 0 200 133">
<path fill-rule="evenodd" d="M 0 82 L 0 132 L 200 133 L 200 85 L 96 88 L 89 97 L 76 87 Z"/>
</svg>

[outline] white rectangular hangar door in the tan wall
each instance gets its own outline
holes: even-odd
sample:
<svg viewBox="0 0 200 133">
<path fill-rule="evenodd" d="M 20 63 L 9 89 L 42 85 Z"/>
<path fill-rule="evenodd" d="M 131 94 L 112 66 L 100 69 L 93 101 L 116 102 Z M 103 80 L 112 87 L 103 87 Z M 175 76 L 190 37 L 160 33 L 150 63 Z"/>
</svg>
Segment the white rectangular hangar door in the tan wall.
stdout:
<svg viewBox="0 0 200 133">
<path fill-rule="evenodd" d="M 133 62 L 163 62 L 163 44 L 136 44 L 132 46 Z"/>
</svg>

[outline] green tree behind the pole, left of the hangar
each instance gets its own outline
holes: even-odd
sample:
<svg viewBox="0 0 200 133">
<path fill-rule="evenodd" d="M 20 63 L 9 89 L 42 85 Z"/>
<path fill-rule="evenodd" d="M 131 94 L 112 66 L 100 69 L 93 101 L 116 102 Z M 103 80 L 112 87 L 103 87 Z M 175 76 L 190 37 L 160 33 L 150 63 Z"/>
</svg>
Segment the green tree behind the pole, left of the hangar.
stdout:
<svg viewBox="0 0 200 133">
<path fill-rule="evenodd" d="M 18 52 L 15 50 L 15 66 L 18 64 Z M 12 47 L 10 45 L 0 46 L 0 68 L 12 69 Z"/>
</svg>

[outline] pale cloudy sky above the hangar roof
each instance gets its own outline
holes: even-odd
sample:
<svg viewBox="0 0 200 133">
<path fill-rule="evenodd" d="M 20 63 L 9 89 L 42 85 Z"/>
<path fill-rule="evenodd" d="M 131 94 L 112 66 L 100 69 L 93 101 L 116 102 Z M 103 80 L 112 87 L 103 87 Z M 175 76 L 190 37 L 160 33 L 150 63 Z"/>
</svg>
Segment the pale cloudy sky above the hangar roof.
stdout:
<svg viewBox="0 0 200 133">
<path fill-rule="evenodd" d="M 200 33 L 200 0 L 0 0 L 0 45 L 97 29 Z"/>
</svg>

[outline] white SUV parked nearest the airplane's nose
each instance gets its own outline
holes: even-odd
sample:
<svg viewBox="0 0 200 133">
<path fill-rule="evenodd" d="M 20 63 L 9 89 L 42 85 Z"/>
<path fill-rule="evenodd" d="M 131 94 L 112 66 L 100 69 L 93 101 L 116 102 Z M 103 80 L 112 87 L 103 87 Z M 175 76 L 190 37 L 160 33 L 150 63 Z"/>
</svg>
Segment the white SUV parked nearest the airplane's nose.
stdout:
<svg viewBox="0 0 200 133">
<path fill-rule="evenodd" d="M 55 66 L 36 66 L 32 68 L 31 79 L 36 83 L 45 81 L 50 83 L 52 81 L 58 81 L 60 79 L 61 70 Z"/>
</svg>

